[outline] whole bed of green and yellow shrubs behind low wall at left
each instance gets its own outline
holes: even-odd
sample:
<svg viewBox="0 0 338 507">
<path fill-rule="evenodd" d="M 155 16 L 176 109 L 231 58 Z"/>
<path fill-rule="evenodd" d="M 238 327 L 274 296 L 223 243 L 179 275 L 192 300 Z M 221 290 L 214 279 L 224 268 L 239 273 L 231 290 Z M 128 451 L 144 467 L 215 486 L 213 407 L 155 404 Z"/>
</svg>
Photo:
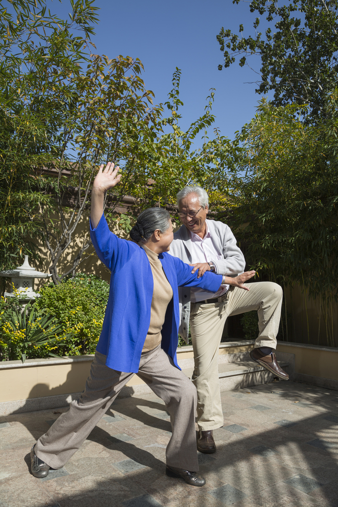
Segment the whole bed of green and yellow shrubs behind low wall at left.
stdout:
<svg viewBox="0 0 338 507">
<path fill-rule="evenodd" d="M 58 285 L 46 283 L 40 294 L 24 311 L 19 294 L 1 299 L 0 360 L 93 354 L 102 329 L 108 283 L 79 273 Z"/>
</svg>

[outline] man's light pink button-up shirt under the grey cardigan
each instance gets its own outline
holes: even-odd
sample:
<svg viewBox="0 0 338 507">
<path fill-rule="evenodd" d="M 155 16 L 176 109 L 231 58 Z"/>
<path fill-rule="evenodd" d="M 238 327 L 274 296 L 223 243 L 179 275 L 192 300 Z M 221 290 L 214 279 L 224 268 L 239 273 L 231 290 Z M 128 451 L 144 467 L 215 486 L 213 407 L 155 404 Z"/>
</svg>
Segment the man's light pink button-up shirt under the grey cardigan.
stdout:
<svg viewBox="0 0 338 507">
<path fill-rule="evenodd" d="M 218 251 L 215 243 L 212 241 L 210 231 L 208 230 L 208 224 L 205 223 L 206 231 L 204 238 L 200 238 L 194 232 L 189 231 L 192 240 L 192 250 L 190 251 L 192 256 L 192 264 L 198 262 L 210 262 L 217 259 L 223 259 L 222 253 Z M 198 303 L 206 299 L 219 298 L 223 296 L 229 289 L 229 285 L 221 285 L 219 291 L 212 294 L 209 291 L 204 291 L 202 288 L 191 289 L 191 302 Z"/>
</svg>

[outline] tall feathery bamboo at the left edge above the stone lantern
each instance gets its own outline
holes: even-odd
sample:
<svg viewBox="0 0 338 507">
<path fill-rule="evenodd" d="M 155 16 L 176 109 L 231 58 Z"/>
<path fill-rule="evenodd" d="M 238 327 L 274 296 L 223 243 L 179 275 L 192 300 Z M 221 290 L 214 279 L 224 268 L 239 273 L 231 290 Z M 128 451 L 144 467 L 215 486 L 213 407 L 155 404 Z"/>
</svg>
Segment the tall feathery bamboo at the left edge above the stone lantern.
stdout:
<svg viewBox="0 0 338 507">
<path fill-rule="evenodd" d="M 62 155 L 64 125 L 77 107 L 76 82 L 88 59 L 97 9 L 90 0 L 71 0 L 65 21 L 47 11 L 44 0 L 9 0 L 0 6 L 0 269 L 4 269 L 17 264 L 23 249 L 39 258 L 32 238 L 42 235 L 41 206 L 53 207 L 43 168 Z"/>
</svg>

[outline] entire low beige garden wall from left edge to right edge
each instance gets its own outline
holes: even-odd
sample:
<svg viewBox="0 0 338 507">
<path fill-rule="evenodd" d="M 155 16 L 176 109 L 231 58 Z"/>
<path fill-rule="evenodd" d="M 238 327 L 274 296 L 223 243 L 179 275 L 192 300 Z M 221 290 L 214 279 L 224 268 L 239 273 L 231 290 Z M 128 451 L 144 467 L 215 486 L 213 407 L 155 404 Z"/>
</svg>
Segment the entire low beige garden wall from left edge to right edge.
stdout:
<svg viewBox="0 0 338 507">
<path fill-rule="evenodd" d="M 219 355 L 247 352 L 253 340 L 222 343 Z M 277 350 L 294 354 L 292 380 L 338 390 L 338 348 L 278 342 Z M 177 349 L 182 369 L 193 366 L 193 347 Z M 93 355 L 60 359 L 26 359 L 0 363 L 0 415 L 62 407 L 77 399 L 90 372 Z M 137 376 L 128 382 L 120 397 L 140 395 L 149 388 Z"/>
</svg>

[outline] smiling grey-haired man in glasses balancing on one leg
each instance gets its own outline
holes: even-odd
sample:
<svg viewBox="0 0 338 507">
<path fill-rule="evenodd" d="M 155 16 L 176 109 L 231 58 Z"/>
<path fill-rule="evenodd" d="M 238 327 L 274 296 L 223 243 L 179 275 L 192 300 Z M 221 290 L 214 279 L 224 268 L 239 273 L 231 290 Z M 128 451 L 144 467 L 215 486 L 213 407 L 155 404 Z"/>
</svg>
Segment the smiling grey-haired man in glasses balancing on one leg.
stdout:
<svg viewBox="0 0 338 507">
<path fill-rule="evenodd" d="M 207 220 L 208 194 L 201 187 L 184 187 L 177 194 L 182 226 L 174 234 L 171 255 L 194 266 L 192 273 L 206 271 L 236 276 L 244 271 L 243 253 L 230 227 Z M 212 430 L 223 425 L 218 380 L 218 347 L 227 317 L 257 310 L 259 335 L 250 357 L 277 377 L 288 380 L 278 365 L 274 350 L 282 305 L 282 289 L 273 282 L 248 285 L 249 291 L 222 285 L 215 294 L 200 288 L 181 287 L 182 304 L 179 333 L 187 342 L 190 331 L 194 347 L 193 382 L 197 387 L 197 448 L 200 452 L 216 451 Z"/>
</svg>

